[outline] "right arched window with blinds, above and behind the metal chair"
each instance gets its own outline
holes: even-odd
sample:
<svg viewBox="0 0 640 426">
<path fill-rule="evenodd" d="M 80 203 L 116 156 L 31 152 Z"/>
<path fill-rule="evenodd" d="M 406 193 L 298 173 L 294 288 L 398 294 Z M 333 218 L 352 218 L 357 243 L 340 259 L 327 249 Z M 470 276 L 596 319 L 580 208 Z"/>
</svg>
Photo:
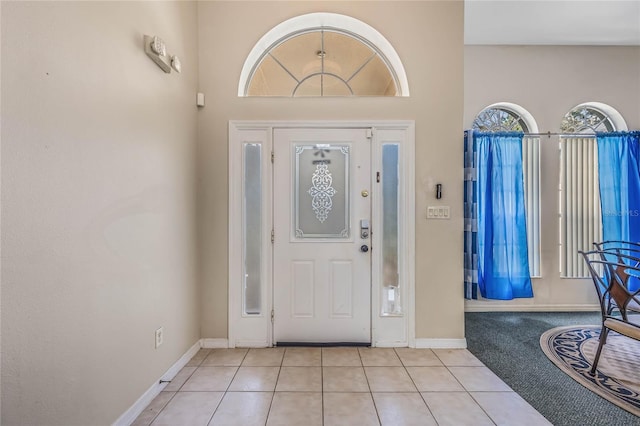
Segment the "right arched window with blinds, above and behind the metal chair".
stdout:
<svg viewBox="0 0 640 426">
<path fill-rule="evenodd" d="M 602 240 L 596 132 L 627 130 L 618 111 L 599 102 L 577 105 L 560 129 L 560 276 L 588 277 L 578 251 L 593 250 Z"/>
</svg>

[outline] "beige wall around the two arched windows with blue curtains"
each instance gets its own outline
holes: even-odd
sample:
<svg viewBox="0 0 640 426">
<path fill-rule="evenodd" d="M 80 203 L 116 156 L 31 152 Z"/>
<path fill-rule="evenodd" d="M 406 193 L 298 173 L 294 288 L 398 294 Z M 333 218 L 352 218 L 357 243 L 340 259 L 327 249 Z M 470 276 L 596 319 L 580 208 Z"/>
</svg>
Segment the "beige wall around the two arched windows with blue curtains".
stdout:
<svg viewBox="0 0 640 426">
<path fill-rule="evenodd" d="M 528 110 L 541 132 L 559 132 L 562 117 L 584 102 L 603 102 L 640 129 L 640 48 L 596 46 L 466 46 L 464 125 L 487 105 L 512 102 Z M 589 280 L 560 279 L 558 138 L 542 138 L 542 275 L 534 297 L 469 301 L 467 309 L 571 310 L 595 307 Z"/>
</svg>

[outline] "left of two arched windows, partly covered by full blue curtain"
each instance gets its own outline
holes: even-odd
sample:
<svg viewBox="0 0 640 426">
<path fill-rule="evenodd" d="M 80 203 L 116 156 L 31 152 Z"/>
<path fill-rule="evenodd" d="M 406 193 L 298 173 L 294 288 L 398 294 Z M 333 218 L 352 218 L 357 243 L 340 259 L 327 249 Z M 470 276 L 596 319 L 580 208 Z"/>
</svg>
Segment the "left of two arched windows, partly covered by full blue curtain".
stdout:
<svg viewBox="0 0 640 426">
<path fill-rule="evenodd" d="M 520 105 L 500 102 L 489 105 L 473 120 L 472 128 L 481 132 L 538 133 L 533 116 Z M 540 138 L 522 139 L 522 172 L 527 214 L 527 244 L 532 277 L 540 277 Z"/>
</svg>

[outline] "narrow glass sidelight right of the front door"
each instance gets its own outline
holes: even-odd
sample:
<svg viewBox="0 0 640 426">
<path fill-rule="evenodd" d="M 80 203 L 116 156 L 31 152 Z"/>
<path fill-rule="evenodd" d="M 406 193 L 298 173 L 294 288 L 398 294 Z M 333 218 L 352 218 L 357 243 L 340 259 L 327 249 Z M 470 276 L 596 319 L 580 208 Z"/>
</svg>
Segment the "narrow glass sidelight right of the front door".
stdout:
<svg viewBox="0 0 640 426">
<path fill-rule="evenodd" d="M 400 301 L 399 145 L 382 145 L 382 315 L 402 316 Z"/>
</svg>

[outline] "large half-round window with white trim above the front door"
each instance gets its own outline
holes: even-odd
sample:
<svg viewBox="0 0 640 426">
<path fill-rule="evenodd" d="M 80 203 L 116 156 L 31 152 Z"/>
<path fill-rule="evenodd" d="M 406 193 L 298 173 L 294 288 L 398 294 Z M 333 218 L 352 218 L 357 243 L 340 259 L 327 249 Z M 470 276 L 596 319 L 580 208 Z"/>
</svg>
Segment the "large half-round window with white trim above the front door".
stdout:
<svg viewBox="0 0 640 426">
<path fill-rule="evenodd" d="M 311 13 L 277 25 L 247 57 L 238 96 L 408 96 L 391 44 L 357 19 Z"/>
</svg>

